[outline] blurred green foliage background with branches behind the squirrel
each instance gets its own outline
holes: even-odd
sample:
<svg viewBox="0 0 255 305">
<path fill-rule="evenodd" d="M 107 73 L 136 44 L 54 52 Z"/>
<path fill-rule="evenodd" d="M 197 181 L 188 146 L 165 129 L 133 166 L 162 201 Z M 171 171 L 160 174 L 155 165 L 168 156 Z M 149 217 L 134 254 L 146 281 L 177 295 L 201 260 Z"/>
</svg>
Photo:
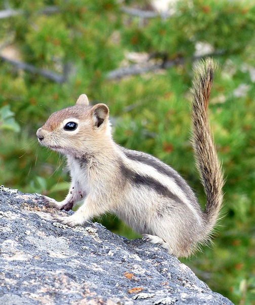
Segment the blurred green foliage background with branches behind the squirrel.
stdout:
<svg viewBox="0 0 255 305">
<path fill-rule="evenodd" d="M 254 1 L 180 0 L 162 13 L 138 0 L 6 0 L 0 11 L 0 182 L 57 200 L 68 190 L 64 158 L 35 132 L 86 93 L 110 107 L 117 143 L 171 165 L 204 206 L 189 87 L 197 58 L 218 61 L 209 115 L 224 217 L 213 245 L 182 261 L 235 304 L 255 304 Z M 138 236 L 114 216 L 101 221 Z"/>
</svg>

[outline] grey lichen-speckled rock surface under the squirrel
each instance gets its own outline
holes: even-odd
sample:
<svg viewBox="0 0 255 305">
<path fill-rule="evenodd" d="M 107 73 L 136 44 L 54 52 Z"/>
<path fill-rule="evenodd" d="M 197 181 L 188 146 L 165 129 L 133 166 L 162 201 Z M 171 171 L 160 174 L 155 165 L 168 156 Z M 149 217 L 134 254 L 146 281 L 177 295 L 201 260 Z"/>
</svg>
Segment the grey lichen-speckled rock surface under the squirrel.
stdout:
<svg viewBox="0 0 255 305">
<path fill-rule="evenodd" d="M 232 304 L 164 249 L 57 214 L 68 213 L 0 187 L 0 304 Z"/>
</svg>

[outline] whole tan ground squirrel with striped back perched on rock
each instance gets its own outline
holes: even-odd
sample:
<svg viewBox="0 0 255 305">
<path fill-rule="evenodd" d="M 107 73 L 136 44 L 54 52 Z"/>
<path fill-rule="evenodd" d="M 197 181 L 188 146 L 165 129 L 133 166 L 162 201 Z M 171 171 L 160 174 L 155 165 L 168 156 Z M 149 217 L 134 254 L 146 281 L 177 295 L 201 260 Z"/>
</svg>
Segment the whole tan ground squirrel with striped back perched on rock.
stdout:
<svg viewBox="0 0 255 305">
<path fill-rule="evenodd" d="M 37 131 L 39 142 L 64 154 L 71 175 L 66 198 L 58 209 L 71 216 L 58 217 L 69 226 L 82 225 L 94 216 L 113 212 L 135 231 L 177 257 L 189 256 L 205 242 L 217 220 L 223 200 L 223 174 L 210 132 L 207 108 L 214 64 L 206 59 L 196 68 L 193 81 L 193 146 L 206 193 L 201 210 L 186 181 L 157 158 L 116 144 L 104 104 L 89 105 L 81 95 L 75 106 L 54 112 Z"/>
</svg>

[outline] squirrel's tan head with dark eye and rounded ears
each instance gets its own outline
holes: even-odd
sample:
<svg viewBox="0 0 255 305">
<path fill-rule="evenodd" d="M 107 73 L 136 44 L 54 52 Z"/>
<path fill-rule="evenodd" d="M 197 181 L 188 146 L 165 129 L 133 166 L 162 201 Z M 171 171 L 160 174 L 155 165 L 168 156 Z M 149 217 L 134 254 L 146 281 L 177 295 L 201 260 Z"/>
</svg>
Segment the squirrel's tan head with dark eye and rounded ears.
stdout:
<svg viewBox="0 0 255 305">
<path fill-rule="evenodd" d="M 111 139 L 109 109 L 105 104 L 89 105 L 85 94 L 75 106 L 54 112 L 37 131 L 42 145 L 65 155 L 81 157 L 107 146 Z"/>
</svg>

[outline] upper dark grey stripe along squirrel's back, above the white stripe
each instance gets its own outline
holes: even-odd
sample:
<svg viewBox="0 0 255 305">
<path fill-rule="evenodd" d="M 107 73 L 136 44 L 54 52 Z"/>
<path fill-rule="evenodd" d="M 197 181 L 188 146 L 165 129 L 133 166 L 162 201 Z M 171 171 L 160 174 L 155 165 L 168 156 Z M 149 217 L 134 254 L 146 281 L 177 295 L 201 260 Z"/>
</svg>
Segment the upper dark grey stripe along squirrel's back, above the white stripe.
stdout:
<svg viewBox="0 0 255 305">
<path fill-rule="evenodd" d="M 176 185 L 184 191 L 187 198 L 193 203 L 194 206 L 197 206 L 197 198 L 191 188 L 188 186 L 187 182 L 183 177 L 181 177 L 173 168 L 171 168 L 169 165 L 163 163 L 159 159 L 142 152 L 138 152 L 135 150 L 126 149 L 122 146 L 119 146 L 121 150 L 123 151 L 124 155 L 134 161 L 141 162 L 143 164 L 149 165 L 153 168 L 155 168 L 159 173 L 164 174 L 171 179 L 174 180 Z"/>
</svg>

